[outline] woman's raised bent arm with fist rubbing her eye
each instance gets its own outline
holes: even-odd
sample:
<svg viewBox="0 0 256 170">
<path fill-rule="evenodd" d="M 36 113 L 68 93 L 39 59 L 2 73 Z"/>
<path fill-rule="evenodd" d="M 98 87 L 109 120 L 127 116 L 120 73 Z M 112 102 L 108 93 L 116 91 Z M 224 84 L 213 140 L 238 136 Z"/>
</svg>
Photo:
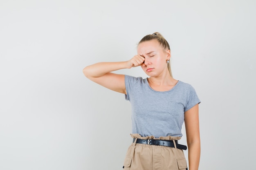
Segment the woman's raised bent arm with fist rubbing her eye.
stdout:
<svg viewBox="0 0 256 170">
<path fill-rule="evenodd" d="M 86 66 L 83 74 L 93 82 L 100 84 L 112 91 L 126 94 L 124 75 L 111 73 L 123 68 L 140 66 L 145 58 L 135 55 L 126 62 L 99 62 Z"/>
</svg>

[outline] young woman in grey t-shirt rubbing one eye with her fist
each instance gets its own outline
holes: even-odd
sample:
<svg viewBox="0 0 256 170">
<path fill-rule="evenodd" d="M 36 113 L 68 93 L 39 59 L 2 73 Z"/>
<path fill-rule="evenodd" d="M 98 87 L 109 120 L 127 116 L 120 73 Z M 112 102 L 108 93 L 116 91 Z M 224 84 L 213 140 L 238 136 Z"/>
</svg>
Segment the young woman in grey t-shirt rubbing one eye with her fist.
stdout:
<svg viewBox="0 0 256 170">
<path fill-rule="evenodd" d="M 198 104 L 194 88 L 173 78 L 170 46 L 160 33 L 146 35 L 137 55 L 124 62 L 100 62 L 83 69 L 93 82 L 124 93 L 132 106 L 132 144 L 124 170 L 187 170 L 178 144 L 183 122 L 189 148 L 189 170 L 198 170 L 200 135 Z M 112 73 L 141 66 L 146 79 Z"/>
</svg>

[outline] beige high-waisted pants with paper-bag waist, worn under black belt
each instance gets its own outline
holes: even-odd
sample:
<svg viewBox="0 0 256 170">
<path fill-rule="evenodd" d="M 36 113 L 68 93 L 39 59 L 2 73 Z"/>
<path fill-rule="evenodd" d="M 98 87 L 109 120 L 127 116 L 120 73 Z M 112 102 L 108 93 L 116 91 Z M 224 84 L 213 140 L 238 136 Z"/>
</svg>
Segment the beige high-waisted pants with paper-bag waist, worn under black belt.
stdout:
<svg viewBox="0 0 256 170">
<path fill-rule="evenodd" d="M 141 137 L 139 134 L 131 134 L 131 137 L 161 140 L 179 140 L 181 138 L 171 136 Z M 176 147 L 136 144 L 135 142 L 130 145 L 126 153 L 124 170 L 186 170 L 187 165 L 183 150 Z"/>
</svg>

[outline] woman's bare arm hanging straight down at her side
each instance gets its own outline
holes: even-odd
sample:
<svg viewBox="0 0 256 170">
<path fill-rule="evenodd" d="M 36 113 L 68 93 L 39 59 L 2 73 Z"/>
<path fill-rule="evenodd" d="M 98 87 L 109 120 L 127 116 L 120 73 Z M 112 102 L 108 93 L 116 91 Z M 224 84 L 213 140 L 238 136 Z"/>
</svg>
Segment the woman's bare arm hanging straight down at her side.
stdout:
<svg viewBox="0 0 256 170">
<path fill-rule="evenodd" d="M 198 104 L 184 113 L 186 139 L 189 148 L 189 170 L 198 170 L 200 160 L 200 132 Z"/>
</svg>

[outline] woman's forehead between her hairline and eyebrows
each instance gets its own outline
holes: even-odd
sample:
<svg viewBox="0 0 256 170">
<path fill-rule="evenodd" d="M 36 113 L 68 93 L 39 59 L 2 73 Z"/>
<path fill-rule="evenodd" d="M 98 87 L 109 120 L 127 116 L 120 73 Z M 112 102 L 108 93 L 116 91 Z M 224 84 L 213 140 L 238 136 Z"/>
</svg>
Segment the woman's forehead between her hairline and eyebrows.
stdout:
<svg viewBox="0 0 256 170">
<path fill-rule="evenodd" d="M 161 50 L 162 47 L 160 46 L 157 40 L 150 40 L 141 42 L 137 47 L 138 53 L 148 53 L 150 51 L 158 51 Z"/>
</svg>

